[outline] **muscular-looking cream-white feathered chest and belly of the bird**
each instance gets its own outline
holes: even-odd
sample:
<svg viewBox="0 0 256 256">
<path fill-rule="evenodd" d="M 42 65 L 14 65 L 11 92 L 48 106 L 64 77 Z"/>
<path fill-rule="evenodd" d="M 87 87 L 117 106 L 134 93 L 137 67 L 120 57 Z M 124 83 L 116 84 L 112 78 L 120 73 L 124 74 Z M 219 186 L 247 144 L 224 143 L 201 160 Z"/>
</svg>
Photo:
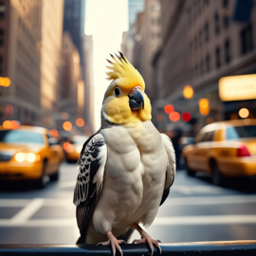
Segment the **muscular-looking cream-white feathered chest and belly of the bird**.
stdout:
<svg viewBox="0 0 256 256">
<path fill-rule="evenodd" d="M 93 217 L 96 229 L 104 232 L 134 222 L 149 226 L 162 198 L 168 165 L 162 137 L 151 121 L 133 128 L 114 126 L 101 134 L 107 160 Z"/>
</svg>

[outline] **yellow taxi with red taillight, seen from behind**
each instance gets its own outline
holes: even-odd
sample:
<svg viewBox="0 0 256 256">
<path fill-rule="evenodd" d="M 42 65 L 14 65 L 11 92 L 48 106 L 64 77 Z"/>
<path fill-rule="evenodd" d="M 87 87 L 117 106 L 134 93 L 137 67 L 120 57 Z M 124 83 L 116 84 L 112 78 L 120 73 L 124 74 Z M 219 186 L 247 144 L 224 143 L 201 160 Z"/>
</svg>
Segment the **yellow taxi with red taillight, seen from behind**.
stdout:
<svg viewBox="0 0 256 256">
<path fill-rule="evenodd" d="M 256 119 L 211 123 L 182 152 L 187 174 L 211 175 L 215 185 L 229 177 L 256 175 Z"/>
</svg>

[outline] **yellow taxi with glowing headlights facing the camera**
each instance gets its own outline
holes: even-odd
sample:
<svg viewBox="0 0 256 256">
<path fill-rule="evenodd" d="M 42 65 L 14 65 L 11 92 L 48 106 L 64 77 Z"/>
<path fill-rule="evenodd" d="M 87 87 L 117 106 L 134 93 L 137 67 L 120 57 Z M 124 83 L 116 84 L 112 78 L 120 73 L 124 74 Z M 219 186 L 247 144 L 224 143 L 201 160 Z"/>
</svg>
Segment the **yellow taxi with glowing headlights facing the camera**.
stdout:
<svg viewBox="0 0 256 256">
<path fill-rule="evenodd" d="M 59 178 L 63 147 L 42 127 L 21 125 L 17 129 L 0 126 L 0 179 L 34 180 L 38 187 Z"/>
</svg>

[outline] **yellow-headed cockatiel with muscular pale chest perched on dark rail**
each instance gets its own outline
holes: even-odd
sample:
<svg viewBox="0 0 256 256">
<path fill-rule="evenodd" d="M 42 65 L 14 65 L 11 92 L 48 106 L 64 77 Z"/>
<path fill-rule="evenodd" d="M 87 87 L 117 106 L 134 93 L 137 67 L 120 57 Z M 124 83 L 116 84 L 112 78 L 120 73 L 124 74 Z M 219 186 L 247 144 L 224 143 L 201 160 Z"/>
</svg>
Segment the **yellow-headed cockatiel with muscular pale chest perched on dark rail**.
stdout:
<svg viewBox="0 0 256 256">
<path fill-rule="evenodd" d="M 149 227 L 174 182 L 171 140 L 151 122 L 151 103 L 137 69 L 119 52 L 107 66 L 108 86 L 101 107 L 101 129 L 83 144 L 74 191 L 77 244 L 110 245 L 113 255 L 134 229 L 154 251 Z M 106 241 L 106 242 L 102 242 Z M 159 247 L 160 249 L 160 247 Z"/>
</svg>

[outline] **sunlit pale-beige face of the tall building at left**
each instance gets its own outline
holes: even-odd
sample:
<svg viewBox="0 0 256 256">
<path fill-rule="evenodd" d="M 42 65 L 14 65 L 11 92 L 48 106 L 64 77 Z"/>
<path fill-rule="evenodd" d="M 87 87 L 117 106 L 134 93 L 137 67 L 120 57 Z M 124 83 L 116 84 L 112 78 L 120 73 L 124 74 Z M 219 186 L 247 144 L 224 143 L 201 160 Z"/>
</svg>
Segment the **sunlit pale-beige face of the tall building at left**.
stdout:
<svg viewBox="0 0 256 256">
<path fill-rule="evenodd" d="M 42 1 L 41 33 L 41 107 L 44 122 L 49 123 L 52 111 L 57 111 L 59 100 L 61 50 L 63 36 L 64 0 Z"/>
</svg>

